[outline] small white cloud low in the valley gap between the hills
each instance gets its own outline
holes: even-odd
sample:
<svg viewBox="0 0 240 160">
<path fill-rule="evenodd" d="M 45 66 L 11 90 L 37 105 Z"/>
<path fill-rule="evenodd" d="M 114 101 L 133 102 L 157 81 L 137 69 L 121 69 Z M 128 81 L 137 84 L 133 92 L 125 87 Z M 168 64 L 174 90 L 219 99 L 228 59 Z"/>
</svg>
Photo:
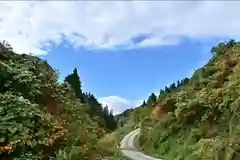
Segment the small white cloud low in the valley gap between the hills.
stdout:
<svg viewBox="0 0 240 160">
<path fill-rule="evenodd" d="M 130 101 L 118 96 L 108 96 L 98 99 L 103 106 L 108 105 L 110 109 L 113 109 L 113 113 L 116 115 L 129 108 L 135 108 L 142 104 L 141 100 Z"/>
</svg>

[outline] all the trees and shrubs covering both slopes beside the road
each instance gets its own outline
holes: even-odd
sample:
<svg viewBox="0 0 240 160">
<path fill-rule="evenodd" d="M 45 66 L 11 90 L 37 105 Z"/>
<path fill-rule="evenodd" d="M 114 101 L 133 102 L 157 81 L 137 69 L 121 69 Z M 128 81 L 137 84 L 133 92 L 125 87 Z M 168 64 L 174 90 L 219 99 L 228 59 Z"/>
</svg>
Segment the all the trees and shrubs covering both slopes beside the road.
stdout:
<svg viewBox="0 0 240 160">
<path fill-rule="evenodd" d="M 76 68 L 63 82 L 45 60 L 0 43 L 1 160 L 127 160 L 123 136 L 166 160 L 240 159 L 240 43 L 221 42 L 190 78 L 113 116 L 82 91 Z"/>
</svg>

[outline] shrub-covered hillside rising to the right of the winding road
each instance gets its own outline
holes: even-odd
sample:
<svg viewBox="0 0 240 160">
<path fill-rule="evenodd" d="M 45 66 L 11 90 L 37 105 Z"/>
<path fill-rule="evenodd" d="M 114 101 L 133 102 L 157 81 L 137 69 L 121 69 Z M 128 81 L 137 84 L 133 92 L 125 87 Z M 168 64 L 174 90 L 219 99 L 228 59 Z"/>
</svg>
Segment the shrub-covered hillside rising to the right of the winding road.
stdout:
<svg viewBox="0 0 240 160">
<path fill-rule="evenodd" d="M 240 43 L 221 42 L 211 52 L 190 79 L 123 116 L 124 123 L 141 122 L 144 152 L 167 160 L 240 159 Z"/>
</svg>

